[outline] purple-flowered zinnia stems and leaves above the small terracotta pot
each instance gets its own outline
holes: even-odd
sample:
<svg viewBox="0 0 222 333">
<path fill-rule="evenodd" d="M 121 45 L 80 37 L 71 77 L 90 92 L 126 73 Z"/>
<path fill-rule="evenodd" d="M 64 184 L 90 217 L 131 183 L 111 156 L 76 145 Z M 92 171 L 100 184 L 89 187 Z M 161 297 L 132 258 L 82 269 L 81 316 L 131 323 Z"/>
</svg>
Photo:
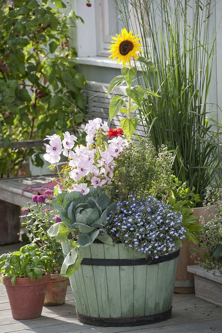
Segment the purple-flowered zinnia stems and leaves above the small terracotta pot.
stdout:
<svg viewBox="0 0 222 333">
<path fill-rule="evenodd" d="M 28 207 L 22 211 L 25 215 L 23 225 L 29 231 L 29 240 L 32 243 L 36 243 L 42 250 L 44 250 L 52 260 L 52 273 L 59 273 L 64 260 L 61 244 L 54 238 L 50 237 L 47 230 L 58 221 L 61 221 L 58 216 L 55 216 L 55 212 L 50 210 L 52 191 L 47 190 L 45 195 L 34 195 L 32 197 L 33 202 L 36 204 L 31 205 L 28 203 Z M 48 200 L 47 200 L 48 199 Z M 47 200 L 49 209 L 44 208 Z"/>
</svg>

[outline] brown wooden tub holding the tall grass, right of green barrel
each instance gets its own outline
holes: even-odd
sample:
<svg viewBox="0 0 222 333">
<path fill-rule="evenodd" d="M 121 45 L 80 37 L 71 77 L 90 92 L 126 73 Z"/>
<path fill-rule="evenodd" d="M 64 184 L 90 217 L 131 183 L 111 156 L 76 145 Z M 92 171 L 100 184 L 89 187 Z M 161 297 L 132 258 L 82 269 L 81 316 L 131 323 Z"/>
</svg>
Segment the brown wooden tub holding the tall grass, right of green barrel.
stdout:
<svg viewBox="0 0 222 333">
<path fill-rule="evenodd" d="M 211 206 L 210 212 L 205 207 L 193 208 L 193 214 L 195 216 L 203 216 L 206 222 L 210 221 L 212 217 L 209 217 L 210 213 L 215 213 L 215 206 Z M 201 225 L 200 220 L 197 220 L 197 224 Z M 187 266 L 195 265 L 196 258 L 191 258 L 190 245 L 199 249 L 199 245 L 195 245 L 192 242 L 182 240 L 183 246 L 180 248 L 180 257 L 177 266 L 177 275 L 174 292 L 180 294 L 194 293 L 194 274 L 187 271 Z M 203 261 L 204 257 L 198 255 Z"/>
</svg>

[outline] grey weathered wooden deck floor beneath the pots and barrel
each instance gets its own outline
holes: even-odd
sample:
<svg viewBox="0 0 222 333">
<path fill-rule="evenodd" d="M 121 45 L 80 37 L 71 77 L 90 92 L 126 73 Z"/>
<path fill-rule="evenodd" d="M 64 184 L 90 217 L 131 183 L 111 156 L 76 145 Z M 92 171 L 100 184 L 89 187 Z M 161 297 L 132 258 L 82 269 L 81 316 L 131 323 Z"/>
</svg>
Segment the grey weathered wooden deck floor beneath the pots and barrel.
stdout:
<svg viewBox="0 0 222 333">
<path fill-rule="evenodd" d="M 12 318 L 5 287 L 0 284 L 1 333 L 206 333 L 222 332 L 222 307 L 202 301 L 193 294 L 174 294 L 172 317 L 167 321 L 137 327 L 97 327 L 80 323 L 76 318 L 71 288 L 64 305 L 43 307 L 41 317 L 32 320 Z"/>
</svg>

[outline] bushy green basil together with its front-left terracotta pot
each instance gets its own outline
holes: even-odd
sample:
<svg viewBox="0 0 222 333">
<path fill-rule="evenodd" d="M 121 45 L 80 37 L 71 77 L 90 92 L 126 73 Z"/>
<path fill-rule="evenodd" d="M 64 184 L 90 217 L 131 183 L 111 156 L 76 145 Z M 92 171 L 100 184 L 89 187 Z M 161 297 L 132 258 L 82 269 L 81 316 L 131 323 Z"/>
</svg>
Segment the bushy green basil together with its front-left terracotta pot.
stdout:
<svg viewBox="0 0 222 333">
<path fill-rule="evenodd" d="M 52 270 L 48 253 L 36 244 L 28 244 L 19 251 L 2 254 L 0 267 L 12 317 L 19 320 L 38 318 Z"/>
</svg>

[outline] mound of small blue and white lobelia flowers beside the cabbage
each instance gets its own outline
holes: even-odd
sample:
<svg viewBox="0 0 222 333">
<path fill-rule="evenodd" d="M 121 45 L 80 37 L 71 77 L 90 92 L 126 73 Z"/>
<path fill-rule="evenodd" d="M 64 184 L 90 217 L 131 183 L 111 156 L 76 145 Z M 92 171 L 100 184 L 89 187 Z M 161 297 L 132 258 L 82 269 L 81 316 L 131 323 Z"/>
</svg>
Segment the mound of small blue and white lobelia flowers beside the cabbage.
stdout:
<svg viewBox="0 0 222 333">
<path fill-rule="evenodd" d="M 185 238 L 182 214 L 155 197 L 131 194 L 120 200 L 117 211 L 106 217 L 103 228 L 118 243 L 134 252 L 158 259 L 175 251 L 177 240 Z"/>
</svg>

